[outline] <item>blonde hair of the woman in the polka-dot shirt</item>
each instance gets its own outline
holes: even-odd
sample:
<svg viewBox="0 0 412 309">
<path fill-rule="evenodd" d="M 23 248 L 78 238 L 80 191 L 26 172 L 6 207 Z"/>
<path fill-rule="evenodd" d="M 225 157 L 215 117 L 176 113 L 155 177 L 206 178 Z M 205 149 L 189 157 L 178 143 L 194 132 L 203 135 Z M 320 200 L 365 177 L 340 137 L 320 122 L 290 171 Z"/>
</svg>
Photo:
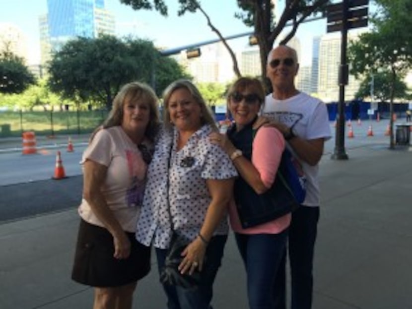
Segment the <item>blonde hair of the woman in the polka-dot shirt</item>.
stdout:
<svg viewBox="0 0 412 309">
<path fill-rule="evenodd" d="M 206 102 L 203 99 L 202 94 L 200 93 L 199 89 L 196 88 L 196 86 L 190 80 L 187 79 L 178 79 L 172 82 L 163 92 L 163 121 L 166 128 L 171 128 L 170 114 L 167 109 L 167 107 L 169 106 L 170 97 L 172 96 L 172 93 L 174 91 L 182 88 L 188 90 L 192 95 L 193 99 L 196 101 L 196 103 L 199 104 L 202 115 L 201 124 L 209 124 L 213 129 L 217 129 L 214 118 L 210 113 L 210 110 L 207 108 Z"/>
</svg>

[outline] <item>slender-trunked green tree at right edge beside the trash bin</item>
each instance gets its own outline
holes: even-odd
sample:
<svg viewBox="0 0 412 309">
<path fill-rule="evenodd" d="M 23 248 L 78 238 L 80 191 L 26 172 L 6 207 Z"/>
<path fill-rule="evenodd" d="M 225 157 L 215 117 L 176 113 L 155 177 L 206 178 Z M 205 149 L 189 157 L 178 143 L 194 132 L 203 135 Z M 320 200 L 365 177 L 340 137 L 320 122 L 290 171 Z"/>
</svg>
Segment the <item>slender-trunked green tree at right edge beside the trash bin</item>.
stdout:
<svg viewBox="0 0 412 309">
<path fill-rule="evenodd" d="M 357 78 L 389 71 L 390 78 L 390 128 L 393 132 L 393 101 L 397 79 L 405 76 L 412 67 L 411 0 L 375 0 L 377 13 L 373 16 L 371 32 L 361 34 L 350 43 L 348 60 L 351 73 Z M 395 147 L 394 134 L 390 134 L 390 148 Z"/>
</svg>

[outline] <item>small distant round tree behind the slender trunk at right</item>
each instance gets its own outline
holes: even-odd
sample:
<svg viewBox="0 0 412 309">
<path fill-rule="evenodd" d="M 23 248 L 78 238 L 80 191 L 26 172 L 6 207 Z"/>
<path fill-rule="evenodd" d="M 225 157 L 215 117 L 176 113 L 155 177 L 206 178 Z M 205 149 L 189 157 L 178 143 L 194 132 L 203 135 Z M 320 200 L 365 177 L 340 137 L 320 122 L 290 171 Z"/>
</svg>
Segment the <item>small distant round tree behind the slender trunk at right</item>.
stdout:
<svg viewBox="0 0 412 309">
<path fill-rule="evenodd" d="M 391 80 L 391 72 L 378 72 L 373 75 L 373 96 L 375 101 L 387 102 L 391 99 L 391 84 L 388 83 Z M 360 83 L 359 89 L 356 92 L 357 98 L 367 98 L 371 95 L 371 83 L 372 76 L 367 76 Z M 395 98 L 407 99 L 408 87 L 405 82 L 397 76 L 395 81 Z"/>
</svg>

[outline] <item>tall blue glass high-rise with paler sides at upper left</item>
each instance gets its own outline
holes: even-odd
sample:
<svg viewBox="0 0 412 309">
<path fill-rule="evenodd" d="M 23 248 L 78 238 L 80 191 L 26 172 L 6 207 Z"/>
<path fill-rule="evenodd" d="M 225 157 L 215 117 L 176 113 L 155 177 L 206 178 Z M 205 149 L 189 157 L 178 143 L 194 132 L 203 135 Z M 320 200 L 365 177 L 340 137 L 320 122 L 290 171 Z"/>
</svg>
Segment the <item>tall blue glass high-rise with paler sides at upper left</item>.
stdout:
<svg viewBox="0 0 412 309">
<path fill-rule="evenodd" d="M 71 39 L 115 34 L 114 15 L 104 0 L 47 0 L 47 9 L 47 15 L 39 17 L 42 64 Z"/>
</svg>

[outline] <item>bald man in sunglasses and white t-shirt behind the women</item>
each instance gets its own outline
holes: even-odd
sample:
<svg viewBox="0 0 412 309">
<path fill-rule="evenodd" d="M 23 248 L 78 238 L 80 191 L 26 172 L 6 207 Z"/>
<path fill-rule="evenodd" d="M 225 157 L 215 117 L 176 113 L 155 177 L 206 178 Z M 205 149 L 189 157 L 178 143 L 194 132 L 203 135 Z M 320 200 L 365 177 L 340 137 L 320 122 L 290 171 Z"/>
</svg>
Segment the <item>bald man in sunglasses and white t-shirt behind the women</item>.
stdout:
<svg viewBox="0 0 412 309">
<path fill-rule="evenodd" d="M 299 68 L 296 51 L 278 46 L 268 55 L 266 75 L 273 93 L 265 99 L 262 115 L 275 122 L 288 148 L 301 163 L 307 179 L 306 198 L 292 214 L 288 255 L 291 270 L 291 308 L 310 309 L 313 294 L 313 255 L 319 220 L 319 161 L 324 142 L 331 137 L 326 105 L 295 88 Z M 286 308 L 286 252 L 274 291 L 275 309 Z"/>
</svg>

